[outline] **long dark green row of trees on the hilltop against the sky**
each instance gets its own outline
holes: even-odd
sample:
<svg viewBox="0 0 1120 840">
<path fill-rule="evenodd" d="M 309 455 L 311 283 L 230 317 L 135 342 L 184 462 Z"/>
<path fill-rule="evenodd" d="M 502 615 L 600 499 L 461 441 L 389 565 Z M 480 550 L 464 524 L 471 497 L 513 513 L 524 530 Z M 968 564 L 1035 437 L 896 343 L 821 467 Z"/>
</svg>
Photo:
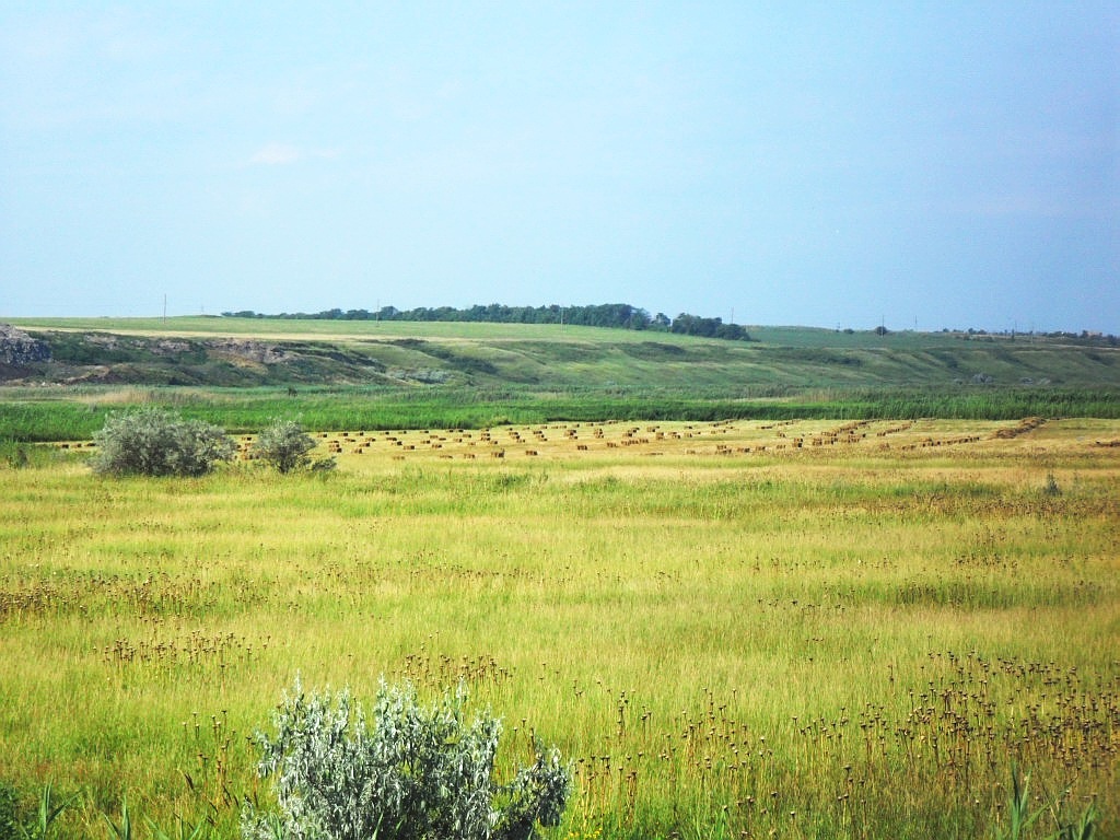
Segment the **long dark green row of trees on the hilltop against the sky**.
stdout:
<svg viewBox="0 0 1120 840">
<path fill-rule="evenodd" d="M 697 335 L 706 338 L 726 338 L 748 342 L 750 335 L 738 324 L 725 324 L 722 318 L 701 318 L 681 312 L 669 318 L 663 312 L 651 316 L 645 309 L 629 304 L 599 304 L 597 306 L 504 306 L 476 305 L 469 309 L 450 306 L 398 309 L 385 306 L 377 311 L 368 309 L 326 309 L 321 312 L 283 312 L 263 315 L 252 309 L 222 312 L 227 318 L 290 318 L 307 320 L 402 320 L 402 321 L 476 321 L 485 324 L 572 324 L 580 327 L 613 327 L 615 329 L 645 329 L 655 333 Z"/>
</svg>

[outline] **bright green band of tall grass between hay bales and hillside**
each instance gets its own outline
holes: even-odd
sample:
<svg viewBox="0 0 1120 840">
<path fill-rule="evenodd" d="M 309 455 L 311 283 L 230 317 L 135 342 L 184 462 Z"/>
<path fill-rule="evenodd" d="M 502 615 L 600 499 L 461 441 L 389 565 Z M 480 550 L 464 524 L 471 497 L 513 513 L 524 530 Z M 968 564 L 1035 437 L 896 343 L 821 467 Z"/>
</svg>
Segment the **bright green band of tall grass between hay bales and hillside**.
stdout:
<svg viewBox="0 0 1120 840">
<path fill-rule="evenodd" d="M 184 417 L 255 432 L 277 417 L 299 418 L 309 430 L 483 428 L 568 420 L 917 419 L 1011 420 L 1025 417 L 1120 417 L 1114 390 L 805 391 L 775 398 L 768 389 L 729 399 L 725 393 L 599 391 L 542 394 L 525 389 L 75 389 L 43 399 L 0 392 L 0 440 L 88 440 L 111 411 L 159 405 Z"/>
</svg>

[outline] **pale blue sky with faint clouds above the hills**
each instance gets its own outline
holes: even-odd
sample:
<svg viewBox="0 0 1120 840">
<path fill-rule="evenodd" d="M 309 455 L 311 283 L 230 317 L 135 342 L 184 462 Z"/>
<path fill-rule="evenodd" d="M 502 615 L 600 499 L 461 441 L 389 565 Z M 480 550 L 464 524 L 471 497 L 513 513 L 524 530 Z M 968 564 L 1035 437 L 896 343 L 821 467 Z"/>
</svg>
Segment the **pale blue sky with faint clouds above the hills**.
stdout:
<svg viewBox="0 0 1120 840">
<path fill-rule="evenodd" d="M 0 317 L 1120 334 L 1120 4 L 0 3 Z"/>
</svg>

